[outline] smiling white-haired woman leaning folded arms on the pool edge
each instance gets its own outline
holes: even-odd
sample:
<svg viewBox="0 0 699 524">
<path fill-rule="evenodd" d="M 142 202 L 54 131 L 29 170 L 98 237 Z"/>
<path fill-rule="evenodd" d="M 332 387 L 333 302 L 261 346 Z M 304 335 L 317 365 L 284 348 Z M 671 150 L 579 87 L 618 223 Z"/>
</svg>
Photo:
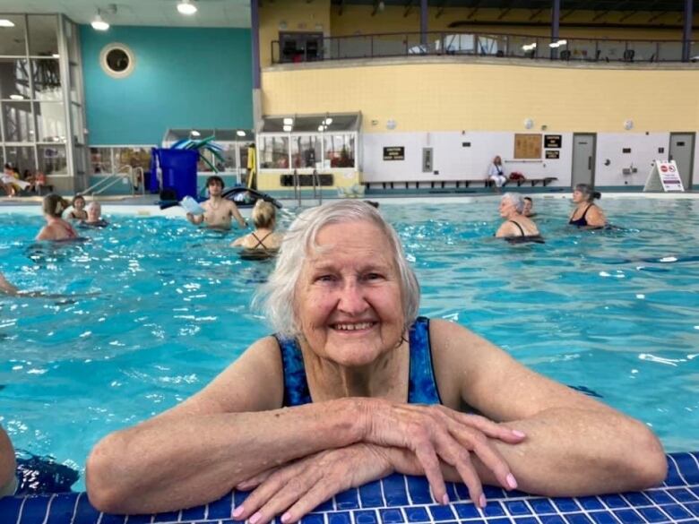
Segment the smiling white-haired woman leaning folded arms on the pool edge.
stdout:
<svg viewBox="0 0 699 524">
<path fill-rule="evenodd" d="M 660 483 L 643 423 L 535 374 L 466 328 L 418 316 L 419 285 L 372 206 L 340 201 L 290 226 L 263 295 L 276 334 L 202 391 L 99 442 L 87 462 L 103 511 L 169 511 L 234 488 L 233 512 L 295 522 L 395 471 L 581 495 Z M 479 413 L 473 415 L 470 413 Z"/>
</svg>

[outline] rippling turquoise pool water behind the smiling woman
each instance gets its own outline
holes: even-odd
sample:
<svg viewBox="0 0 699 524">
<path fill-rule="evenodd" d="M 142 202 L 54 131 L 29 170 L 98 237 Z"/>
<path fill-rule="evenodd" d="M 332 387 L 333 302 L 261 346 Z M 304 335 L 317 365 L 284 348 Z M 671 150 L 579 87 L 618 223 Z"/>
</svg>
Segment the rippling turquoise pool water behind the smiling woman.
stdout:
<svg viewBox="0 0 699 524">
<path fill-rule="evenodd" d="M 668 451 L 699 450 L 699 201 L 602 201 L 621 229 L 601 232 L 565 227 L 564 200 L 537 203 L 546 245 L 492 238 L 492 200 L 382 204 L 421 313 L 595 391 Z M 0 296 L 0 424 L 19 448 L 82 472 L 101 436 L 198 391 L 268 333 L 249 303 L 272 266 L 239 260 L 233 234 L 115 216 L 88 242 L 37 248 L 41 219 L 4 211 L 0 271 L 75 294 Z"/>
</svg>

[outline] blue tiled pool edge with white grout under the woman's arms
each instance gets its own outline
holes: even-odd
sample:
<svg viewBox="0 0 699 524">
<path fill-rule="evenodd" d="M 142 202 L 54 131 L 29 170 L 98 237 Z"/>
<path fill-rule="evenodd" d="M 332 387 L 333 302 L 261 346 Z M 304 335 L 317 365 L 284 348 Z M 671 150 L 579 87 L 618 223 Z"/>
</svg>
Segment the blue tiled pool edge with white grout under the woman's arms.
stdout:
<svg viewBox="0 0 699 524">
<path fill-rule="evenodd" d="M 699 522 L 699 452 L 668 455 L 665 483 L 640 493 L 577 498 L 531 496 L 488 487 L 488 507 L 479 511 L 463 485 L 449 485 L 448 506 L 434 502 L 423 477 L 393 475 L 351 489 L 307 515 L 303 524 L 634 524 Z M 108 515 L 96 511 L 84 493 L 5 497 L 0 522 L 13 524 L 232 524 L 233 509 L 246 494 L 157 515 Z"/>
</svg>

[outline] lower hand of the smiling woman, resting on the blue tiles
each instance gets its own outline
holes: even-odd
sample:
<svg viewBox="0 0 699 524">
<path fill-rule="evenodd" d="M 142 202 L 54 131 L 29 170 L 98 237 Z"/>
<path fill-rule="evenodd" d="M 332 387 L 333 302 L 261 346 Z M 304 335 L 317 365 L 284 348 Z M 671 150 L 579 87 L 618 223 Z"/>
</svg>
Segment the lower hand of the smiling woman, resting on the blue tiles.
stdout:
<svg viewBox="0 0 699 524">
<path fill-rule="evenodd" d="M 379 446 L 359 443 L 321 451 L 238 484 L 237 489 L 257 487 L 232 516 L 250 524 L 264 524 L 284 511 L 284 524 L 296 522 L 334 494 L 391 473 L 387 451 Z"/>
</svg>

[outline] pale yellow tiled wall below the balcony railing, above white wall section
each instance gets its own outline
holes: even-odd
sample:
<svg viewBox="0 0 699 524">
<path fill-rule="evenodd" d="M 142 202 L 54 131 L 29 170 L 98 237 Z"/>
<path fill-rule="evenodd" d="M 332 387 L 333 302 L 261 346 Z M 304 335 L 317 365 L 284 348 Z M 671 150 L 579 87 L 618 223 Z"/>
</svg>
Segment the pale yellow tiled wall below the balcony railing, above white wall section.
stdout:
<svg viewBox="0 0 699 524">
<path fill-rule="evenodd" d="M 695 70 L 603 69 L 600 66 L 396 64 L 263 72 L 263 111 L 293 115 L 361 111 L 363 131 L 521 130 L 575 132 L 699 129 Z M 375 125 L 372 124 L 375 121 Z"/>
</svg>

